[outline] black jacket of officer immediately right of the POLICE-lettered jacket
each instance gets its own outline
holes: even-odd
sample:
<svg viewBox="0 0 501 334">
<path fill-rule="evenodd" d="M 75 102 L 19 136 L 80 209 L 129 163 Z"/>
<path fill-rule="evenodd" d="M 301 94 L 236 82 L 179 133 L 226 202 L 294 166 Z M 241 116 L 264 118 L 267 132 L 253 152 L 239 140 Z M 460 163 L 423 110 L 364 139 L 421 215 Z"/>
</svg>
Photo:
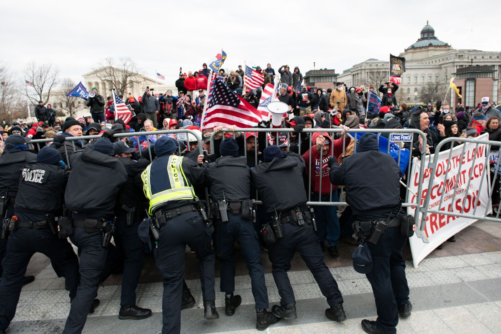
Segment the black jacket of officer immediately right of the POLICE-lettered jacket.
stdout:
<svg viewBox="0 0 501 334">
<path fill-rule="evenodd" d="M 112 215 L 127 171 L 117 158 L 86 148 L 71 156 L 65 203 L 71 212 L 88 218 Z"/>
</svg>

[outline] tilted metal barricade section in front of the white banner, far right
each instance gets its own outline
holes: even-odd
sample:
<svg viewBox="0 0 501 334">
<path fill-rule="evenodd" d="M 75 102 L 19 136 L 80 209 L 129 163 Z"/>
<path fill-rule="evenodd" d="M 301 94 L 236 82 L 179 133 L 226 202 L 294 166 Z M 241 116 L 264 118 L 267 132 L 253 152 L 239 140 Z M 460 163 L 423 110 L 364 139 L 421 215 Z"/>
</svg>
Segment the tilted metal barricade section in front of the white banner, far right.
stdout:
<svg viewBox="0 0 501 334">
<path fill-rule="evenodd" d="M 465 150 L 466 150 L 465 143 L 474 143 L 475 144 L 475 150 L 474 150 L 475 154 L 473 154 L 472 159 L 471 159 L 473 166 L 475 165 L 475 161 L 477 159 L 476 152 L 478 151 L 479 146 L 485 145 L 485 148 L 486 148 L 485 149 L 485 152 L 486 152 L 485 159 L 478 158 L 478 159 L 484 160 L 483 168 L 481 170 L 480 180 L 484 179 L 484 177 L 486 175 L 485 173 L 490 173 L 489 151 L 490 151 L 491 146 L 501 146 L 501 142 L 498 142 L 498 141 L 481 140 L 481 139 L 476 139 L 476 138 L 449 137 L 449 138 L 442 140 L 440 143 L 438 143 L 438 145 L 435 149 L 435 152 L 439 152 L 440 148 L 442 148 L 444 145 L 447 145 L 448 143 L 451 143 L 451 142 L 462 143 L 462 145 L 460 145 L 460 146 L 455 146 L 455 147 L 459 147 L 459 148 L 461 148 L 461 146 L 462 146 L 462 148 L 461 148 L 462 152 L 461 152 L 460 159 L 459 159 L 461 161 L 463 161 L 463 159 L 464 159 L 464 154 L 465 154 Z M 430 177 L 432 177 L 433 175 L 436 174 L 436 170 L 437 170 L 437 166 L 438 166 L 438 159 L 439 159 L 438 154 L 435 154 L 433 157 L 433 161 L 431 161 L 431 159 L 430 159 L 430 161 L 428 163 L 428 168 L 430 168 L 430 170 L 429 170 Z M 447 181 L 447 176 L 449 174 L 449 170 L 451 167 L 451 160 L 452 160 L 452 149 L 450 149 L 450 151 L 449 151 L 447 164 L 445 167 L 446 172 L 445 172 L 444 179 L 446 181 Z M 494 167 L 494 171 L 493 171 L 494 177 L 496 177 L 496 178 L 499 178 L 498 172 L 499 172 L 499 162 L 500 161 L 501 161 L 500 159 L 497 159 L 497 161 L 495 162 L 495 164 L 493 166 Z M 425 164 L 423 163 L 422 165 L 425 165 Z M 465 174 L 465 173 L 461 173 L 461 171 L 462 171 L 462 163 L 459 164 L 458 172 L 455 175 L 455 178 L 454 178 L 454 175 L 452 175 L 453 180 L 457 181 L 457 180 L 459 180 L 459 177 L 461 174 Z M 463 218 L 470 218 L 470 219 L 482 219 L 482 220 L 493 221 L 493 222 L 501 222 L 501 218 L 499 218 L 499 212 L 501 210 L 501 201 L 499 203 L 497 203 L 499 206 L 497 208 L 497 211 L 495 212 L 495 217 L 488 217 L 487 216 L 488 209 L 489 209 L 489 207 L 491 207 L 491 204 L 492 204 L 492 194 L 495 191 L 495 189 L 494 189 L 495 182 L 494 182 L 494 180 L 490 180 L 490 177 L 487 177 L 487 180 L 488 181 L 490 180 L 490 182 L 487 182 L 487 184 L 484 184 L 484 182 L 481 182 L 479 185 L 479 189 L 478 189 L 478 194 L 480 194 L 483 187 L 488 187 L 488 203 L 486 203 L 485 211 L 477 213 L 478 206 L 475 205 L 475 208 L 473 209 L 472 214 L 463 213 L 464 209 L 465 209 L 467 196 L 468 195 L 473 196 L 473 194 L 469 194 L 469 191 L 470 191 L 470 184 L 471 184 L 471 180 L 472 180 L 472 176 L 473 176 L 474 172 L 475 172 L 475 168 L 471 168 L 469 173 L 468 173 L 467 184 L 466 184 L 465 194 L 464 194 L 464 200 L 463 200 L 460 212 L 451 212 L 451 211 L 446 211 L 446 210 L 440 210 L 440 208 L 442 207 L 442 204 L 443 204 L 443 198 L 444 198 L 444 193 L 445 193 L 445 191 L 443 191 L 443 189 L 442 189 L 442 193 L 440 196 L 438 209 L 430 209 L 428 206 L 430 205 L 430 198 L 431 198 L 433 183 L 432 182 L 429 183 L 424 204 L 422 207 L 420 207 L 420 212 L 422 214 L 421 215 L 421 221 L 422 221 L 421 228 L 422 229 L 424 229 L 424 225 L 425 225 L 423 222 L 426 221 L 426 216 L 429 213 L 436 213 L 436 214 L 441 214 L 441 215 L 446 215 L 446 216 L 463 217 Z M 459 181 L 455 182 L 454 187 L 452 188 L 452 190 L 453 190 L 452 203 L 454 203 L 454 199 L 455 199 L 456 193 L 458 191 L 458 188 L 460 186 L 463 186 L 463 185 L 464 184 L 461 184 Z M 443 188 L 445 188 L 445 186 L 446 185 L 444 183 Z M 473 199 L 472 201 L 476 202 L 476 199 Z M 492 213 L 492 215 L 494 215 L 494 212 Z"/>
</svg>

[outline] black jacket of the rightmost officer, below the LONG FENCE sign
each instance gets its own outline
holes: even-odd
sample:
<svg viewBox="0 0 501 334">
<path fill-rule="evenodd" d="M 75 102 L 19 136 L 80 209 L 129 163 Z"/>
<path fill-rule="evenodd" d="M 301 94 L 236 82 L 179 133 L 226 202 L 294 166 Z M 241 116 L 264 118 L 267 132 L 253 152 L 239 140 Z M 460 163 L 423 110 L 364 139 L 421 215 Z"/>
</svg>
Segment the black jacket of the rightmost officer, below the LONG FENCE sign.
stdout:
<svg viewBox="0 0 501 334">
<path fill-rule="evenodd" d="M 400 203 L 400 177 L 395 159 L 379 151 L 360 152 L 329 161 L 332 184 L 346 186 L 346 202 L 356 219 L 386 219 Z M 362 177 L 363 176 L 363 177 Z"/>
</svg>

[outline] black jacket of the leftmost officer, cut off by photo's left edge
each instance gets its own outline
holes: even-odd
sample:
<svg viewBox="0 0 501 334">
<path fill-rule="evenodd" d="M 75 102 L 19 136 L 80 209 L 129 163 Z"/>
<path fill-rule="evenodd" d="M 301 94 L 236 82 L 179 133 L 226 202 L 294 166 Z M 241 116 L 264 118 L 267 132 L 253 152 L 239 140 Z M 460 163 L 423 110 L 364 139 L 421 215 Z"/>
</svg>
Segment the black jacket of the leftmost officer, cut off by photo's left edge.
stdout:
<svg viewBox="0 0 501 334">
<path fill-rule="evenodd" d="M 0 156 L 0 194 L 6 194 L 9 190 L 11 202 L 8 207 L 14 208 L 12 203 L 18 195 L 21 170 L 28 162 L 35 161 L 37 154 L 30 150 L 8 150 L 7 152 Z"/>
</svg>

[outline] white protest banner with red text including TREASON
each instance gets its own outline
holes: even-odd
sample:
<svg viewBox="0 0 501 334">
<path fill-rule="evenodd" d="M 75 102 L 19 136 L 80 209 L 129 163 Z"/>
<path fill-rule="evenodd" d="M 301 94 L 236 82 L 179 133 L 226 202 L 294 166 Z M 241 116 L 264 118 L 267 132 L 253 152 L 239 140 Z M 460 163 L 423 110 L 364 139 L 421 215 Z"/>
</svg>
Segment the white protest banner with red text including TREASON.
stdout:
<svg viewBox="0 0 501 334">
<path fill-rule="evenodd" d="M 488 139 L 487 134 L 479 136 L 478 139 Z M 464 154 L 462 153 L 463 145 L 466 145 Z M 424 204 L 426 196 L 430 196 L 429 210 L 473 214 L 476 208 L 475 215 L 481 218 L 488 206 L 487 213 L 491 213 L 492 209 L 488 196 L 490 175 L 488 170 L 483 173 L 487 154 L 486 145 L 480 144 L 477 147 L 475 143 L 464 143 L 456 146 L 452 149 L 450 162 L 448 162 L 449 150 L 436 154 L 439 154 L 439 157 L 433 175 L 431 175 L 431 168 L 425 167 L 424 169 L 421 205 Z M 429 160 L 430 158 L 431 160 Z M 433 158 L 434 155 L 427 156 L 424 163 L 427 165 L 429 161 L 433 161 Z M 407 183 L 409 198 L 412 199 L 410 202 L 416 201 L 416 196 L 412 193 L 417 193 L 421 163 L 423 163 L 421 160 L 414 158 L 411 178 Z M 471 179 L 468 186 L 470 172 Z M 433 185 L 431 192 L 428 194 L 430 182 Z M 480 184 L 482 184 L 481 187 Z M 466 189 L 467 187 L 468 189 Z M 463 206 L 464 210 L 462 210 Z M 413 214 L 414 208 L 409 207 L 408 213 Z M 424 243 L 416 234 L 409 238 L 414 267 L 417 267 L 419 262 L 436 247 L 475 221 L 477 219 L 428 213 L 424 232 L 429 243 Z"/>
</svg>

